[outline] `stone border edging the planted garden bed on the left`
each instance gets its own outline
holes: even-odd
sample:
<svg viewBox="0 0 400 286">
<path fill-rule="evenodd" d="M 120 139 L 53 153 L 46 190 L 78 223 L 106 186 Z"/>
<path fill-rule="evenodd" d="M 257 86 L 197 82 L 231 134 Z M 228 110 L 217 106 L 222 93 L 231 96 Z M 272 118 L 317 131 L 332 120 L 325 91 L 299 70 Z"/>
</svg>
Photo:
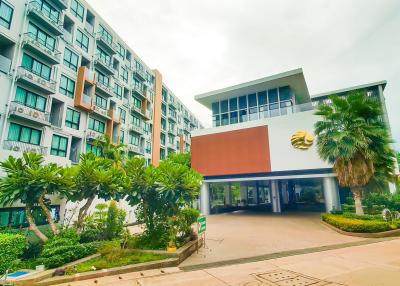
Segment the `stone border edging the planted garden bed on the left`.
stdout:
<svg viewBox="0 0 400 286">
<path fill-rule="evenodd" d="M 89 271 L 84 273 L 77 273 L 74 275 L 66 275 L 66 276 L 54 276 L 53 273 L 55 269 L 49 269 L 42 272 L 37 273 L 36 275 L 32 275 L 29 278 L 21 279 L 19 281 L 15 281 L 15 286 L 28 286 L 28 285 L 40 285 L 40 286 L 48 286 L 48 285 L 55 285 L 73 281 L 81 281 L 86 279 L 93 279 L 99 278 L 104 276 L 111 276 L 111 275 L 118 275 L 118 274 L 125 274 L 129 272 L 137 272 L 143 270 L 150 270 L 150 269 L 157 269 L 157 268 L 165 268 L 165 267 L 173 267 L 178 266 L 182 261 L 184 261 L 187 257 L 189 257 L 193 252 L 197 250 L 197 248 L 203 245 L 203 239 L 189 241 L 184 246 L 179 248 L 176 252 L 167 252 L 165 250 L 139 250 L 135 249 L 135 251 L 142 252 L 142 253 L 153 253 L 153 254 L 160 254 L 167 256 L 169 258 L 158 260 L 158 261 L 151 261 L 145 263 L 138 263 L 138 264 L 131 264 L 125 265 L 120 267 L 114 267 L 109 269 L 97 270 L 97 271 Z M 94 254 L 71 263 L 68 263 L 62 267 L 58 268 L 65 268 L 77 265 L 79 263 L 88 261 L 95 257 L 100 256 L 100 254 Z"/>
</svg>

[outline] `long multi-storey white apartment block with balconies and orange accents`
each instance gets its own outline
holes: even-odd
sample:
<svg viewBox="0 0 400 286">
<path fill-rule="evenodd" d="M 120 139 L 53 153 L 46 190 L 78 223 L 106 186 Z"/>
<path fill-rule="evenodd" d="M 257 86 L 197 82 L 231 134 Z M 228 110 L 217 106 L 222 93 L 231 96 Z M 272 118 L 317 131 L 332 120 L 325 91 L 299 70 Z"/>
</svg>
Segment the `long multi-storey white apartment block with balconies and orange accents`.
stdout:
<svg viewBox="0 0 400 286">
<path fill-rule="evenodd" d="M 81 0 L 0 0 L 0 160 L 34 151 L 77 164 L 105 134 L 157 165 L 190 150 L 199 121 Z M 56 216 L 63 203 L 52 201 Z M 61 209 L 61 210 L 60 210 Z M 0 210 L 0 226 L 24 221 Z"/>
</svg>

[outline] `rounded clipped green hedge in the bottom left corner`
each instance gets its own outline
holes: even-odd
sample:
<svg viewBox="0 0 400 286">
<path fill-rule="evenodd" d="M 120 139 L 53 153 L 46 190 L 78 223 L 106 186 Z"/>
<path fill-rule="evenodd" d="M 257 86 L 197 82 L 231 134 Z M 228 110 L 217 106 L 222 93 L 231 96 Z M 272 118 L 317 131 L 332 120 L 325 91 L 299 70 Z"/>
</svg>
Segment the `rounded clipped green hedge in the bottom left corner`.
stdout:
<svg viewBox="0 0 400 286">
<path fill-rule="evenodd" d="M 13 268 L 16 260 L 22 255 L 25 246 L 25 237 L 20 234 L 0 234 L 0 274 Z"/>
</svg>

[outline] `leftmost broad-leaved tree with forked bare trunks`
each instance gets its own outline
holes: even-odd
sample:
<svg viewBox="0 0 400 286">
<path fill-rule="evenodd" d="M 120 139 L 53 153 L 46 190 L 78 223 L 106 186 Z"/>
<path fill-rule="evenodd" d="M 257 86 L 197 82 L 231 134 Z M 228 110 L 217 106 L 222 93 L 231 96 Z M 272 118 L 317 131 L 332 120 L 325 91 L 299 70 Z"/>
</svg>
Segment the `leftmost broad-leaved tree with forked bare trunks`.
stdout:
<svg viewBox="0 0 400 286">
<path fill-rule="evenodd" d="M 35 153 L 23 153 L 22 158 L 12 156 L 0 166 L 6 176 L 0 181 L 0 203 L 11 205 L 20 201 L 25 204 L 25 213 L 29 229 L 42 241 L 47 241 L 35 223 L 32 211 L 39 206 L 55 235 L 58 228 L 48 207 L 48 195 L 63 194 L 72 188 L 69 169 L 63 169 L 55 164 L 43 165 L 43 156 Z"/>
</svg>

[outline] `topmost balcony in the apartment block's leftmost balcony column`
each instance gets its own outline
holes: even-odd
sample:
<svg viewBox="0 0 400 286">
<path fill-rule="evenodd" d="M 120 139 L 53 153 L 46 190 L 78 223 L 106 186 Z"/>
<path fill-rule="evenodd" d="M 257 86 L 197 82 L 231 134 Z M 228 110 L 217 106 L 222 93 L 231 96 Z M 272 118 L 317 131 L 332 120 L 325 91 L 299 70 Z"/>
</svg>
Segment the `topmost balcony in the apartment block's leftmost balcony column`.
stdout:
<svg viewBox="0 0 400 286">
<path fill-rule="evenodd" d="M 59 2 L 59 1 L 58 1 Z M 60 19 L 52 18 L 47 11 L 41 9 L 40 4 L 36 1 L 32 1 L 28 4 L 28 15 L 40 22 L 47 30 L 52 34 L 61 36 L 63 34 L 63 24 Z M 61 13 L 60 13 L 61 18 Z"/>
</svg>

